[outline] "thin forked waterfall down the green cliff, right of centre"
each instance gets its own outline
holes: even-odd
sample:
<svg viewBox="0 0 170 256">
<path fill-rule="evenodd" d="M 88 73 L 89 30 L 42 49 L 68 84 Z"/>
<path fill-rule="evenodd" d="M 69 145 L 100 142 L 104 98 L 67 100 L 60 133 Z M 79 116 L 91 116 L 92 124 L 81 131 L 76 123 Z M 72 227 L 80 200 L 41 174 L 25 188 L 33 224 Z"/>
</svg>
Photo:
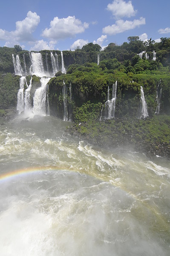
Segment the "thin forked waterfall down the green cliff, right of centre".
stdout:
<svg viewBox="0 0 170 256">
<path fill-rule="evenodd" d="M 109 99 L 109 87 L 107 102 L 105 102 L 104 118 L 109 119 L 115 117 L 115 101 L 116 101 L 117 81 L 112 86 L 112 99 Z M 103 112 L 103 109 L 102 109 Z"/>
</svg>

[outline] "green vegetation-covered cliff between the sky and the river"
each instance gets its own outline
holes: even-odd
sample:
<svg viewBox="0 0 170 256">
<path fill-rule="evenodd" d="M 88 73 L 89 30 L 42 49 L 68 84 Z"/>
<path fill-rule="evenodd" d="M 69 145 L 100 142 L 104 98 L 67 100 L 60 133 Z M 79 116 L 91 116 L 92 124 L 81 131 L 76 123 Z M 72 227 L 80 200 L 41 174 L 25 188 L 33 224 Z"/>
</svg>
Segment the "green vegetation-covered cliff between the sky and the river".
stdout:
<svg viewBox="0 0 170 256">
<path fill-rule="evenodd" d="M 48 71 L 52 70 L 51 52 L 61 63 L 60 51 L 40 51 Z M 31 65 L 28 51 L 19 46 L 0 47 L 0 113 L 4 116 L 6 109 L 17 105 L 20 76 L 14 75 L 12 54 L 19 56 L 23 68 L 23 55 L 25 68 Z M 155 43 L 129 37 L 128 43 L 111 43 L 104 50 L 89 43 L 82 49 L 63 51 L 63 59 L 66 74 L 59 71 L 49 80 L 48 99 L 51 115 L 63 119 L 66 111 L 71 113 L 69 119 L 75 124 L 69 132 L 102 146 L 130 143 L 147 154 L 170 157 L 170 38 Z M 30 78 L 26 77 L 28 84 Z M 107 118 L 108 92 L 111 99 L 115 82 L 114 116 Z M 40 78 L 33 76 L 32 97 L 37 87 Z M 139 119 L 141 87 L 148 115 Z"/>
</svg>

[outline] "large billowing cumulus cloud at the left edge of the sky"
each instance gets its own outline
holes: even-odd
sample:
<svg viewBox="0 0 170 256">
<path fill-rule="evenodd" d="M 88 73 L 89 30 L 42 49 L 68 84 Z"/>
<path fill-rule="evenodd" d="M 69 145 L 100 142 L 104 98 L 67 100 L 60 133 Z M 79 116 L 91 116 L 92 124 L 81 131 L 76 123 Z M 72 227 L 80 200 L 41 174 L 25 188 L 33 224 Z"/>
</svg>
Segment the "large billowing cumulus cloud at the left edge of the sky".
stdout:
<svg viewBox="0 0 170 256">
<path fill-rule="evenodd" d="M 0 29 L 0 40 L 8 41 L 8 43 L 33 41 L 32 33 L 37 28 L 39 22 L 40 16 L 38 16 L 36 12 L 29 11 L 24 20 L 16 22 L 16 29 L 14 31 L 9 32 Z"/>
</svg>

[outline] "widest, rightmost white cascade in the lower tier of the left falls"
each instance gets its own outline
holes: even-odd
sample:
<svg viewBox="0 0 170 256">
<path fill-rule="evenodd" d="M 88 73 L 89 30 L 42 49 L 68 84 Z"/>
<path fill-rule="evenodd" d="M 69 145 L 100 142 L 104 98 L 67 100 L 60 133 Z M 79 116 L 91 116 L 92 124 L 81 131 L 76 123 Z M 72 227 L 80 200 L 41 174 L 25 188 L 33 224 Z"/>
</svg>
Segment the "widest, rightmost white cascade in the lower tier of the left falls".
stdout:
<svg viewBox="0 0 170 256">
<path fill-rule="evenodd" d="M 48 106 L 46 105 L 47 98 L 47 83 L 49 82 L 50 77 L 42 77 L 40 79 L 41 87 L 39 87 L 34 94 L 34 107 L 33 113 L 46 115 Z"/>
</svg>

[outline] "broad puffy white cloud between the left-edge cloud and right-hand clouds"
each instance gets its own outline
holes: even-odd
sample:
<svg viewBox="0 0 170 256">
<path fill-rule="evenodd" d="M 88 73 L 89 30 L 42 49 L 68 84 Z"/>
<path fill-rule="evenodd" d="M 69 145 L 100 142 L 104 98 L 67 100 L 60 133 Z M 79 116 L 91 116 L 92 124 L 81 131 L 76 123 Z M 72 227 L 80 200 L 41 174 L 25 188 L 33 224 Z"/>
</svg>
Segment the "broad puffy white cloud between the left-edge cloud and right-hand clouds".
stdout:
<svg viewBox="0 0 170 256">
<path fill-rule="evenodd" d="M 72 38 L 76 34 L 83 33 L 85 29 L 89 27 L 89 24 L 75 18 L 75 16 L 68 16 L 67 18 L 55 17 L 50 22 L 50 28 L 44 29 L 42 36 L 46 38 L 52 38 L 55 40 Z"/>
</svg>

